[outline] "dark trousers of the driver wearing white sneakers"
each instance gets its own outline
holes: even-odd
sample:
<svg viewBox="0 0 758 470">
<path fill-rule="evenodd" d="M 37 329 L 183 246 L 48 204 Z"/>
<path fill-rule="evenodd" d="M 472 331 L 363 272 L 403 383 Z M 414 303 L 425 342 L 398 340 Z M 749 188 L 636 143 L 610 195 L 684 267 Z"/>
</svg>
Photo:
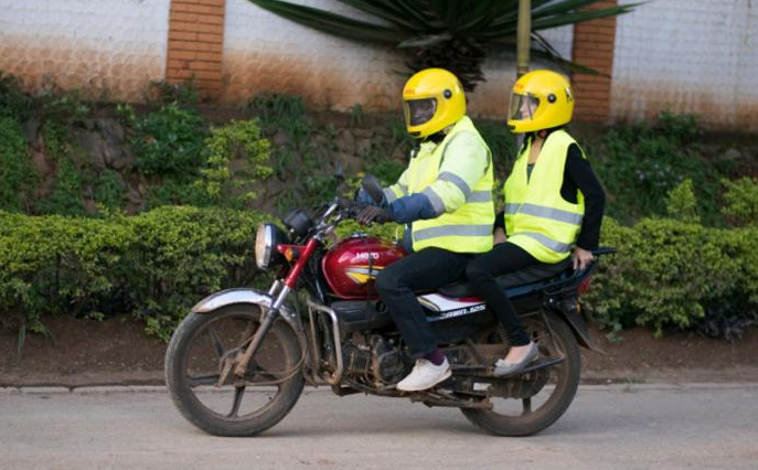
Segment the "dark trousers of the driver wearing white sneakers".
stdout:
<svg viewBox="0 0 758 470">
<path fill-rule="evenodd" d="M 376 277 L 376 290 L 413 357 L 423 357 L 437 349 L 435 333 L 414 292 L 438 289 L 460 279 L 469 259 L 468 254 L 425 248 L 393 263 Z"/>
</svg>

